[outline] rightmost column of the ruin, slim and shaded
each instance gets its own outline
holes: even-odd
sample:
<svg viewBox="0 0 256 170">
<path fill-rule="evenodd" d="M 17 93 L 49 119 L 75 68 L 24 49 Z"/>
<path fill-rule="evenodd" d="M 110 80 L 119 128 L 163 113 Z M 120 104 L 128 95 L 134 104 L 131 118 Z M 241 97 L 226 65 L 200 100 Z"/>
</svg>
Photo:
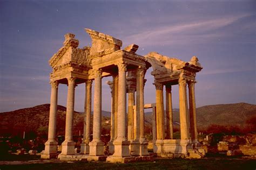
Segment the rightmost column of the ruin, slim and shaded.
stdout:
<svg viewBox="0 0 256 170">
<path fill-rule="evenodd" d="M 196 81 L 188 82 L 188 96 L 190 103 L 190 130 L 191 139 L 193 142 L 198 142 L 197 140 L 197 115 L 196 115 L 196 100 L 194 95 L 194 84 Z"/>
</svg>

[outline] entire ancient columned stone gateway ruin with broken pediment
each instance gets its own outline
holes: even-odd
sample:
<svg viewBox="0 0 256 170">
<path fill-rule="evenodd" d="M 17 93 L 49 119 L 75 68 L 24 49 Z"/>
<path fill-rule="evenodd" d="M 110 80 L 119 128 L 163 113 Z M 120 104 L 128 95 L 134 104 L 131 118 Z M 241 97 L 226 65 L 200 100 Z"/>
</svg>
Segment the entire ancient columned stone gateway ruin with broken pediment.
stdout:
<svg viewBox="0 0 256 170">
<path fill-rule="evenodd" d="M 142 56 L 136 53 L 138 45 L 131 44 L 121 49 L 121 40 L 90 29 L 85 30 L 92 39 L 91 47 L 78 48 L 79 41 L 75 39 L 74 34 L 68 33 L 65 35 L 63 47 L 49 60 L 53 68 L 50 74 L 49 134 L 41 158 L 57 157 L 56 113 L 59 83 L 68 84 L 65 140 L 62 143 L 62 152 L 58 155 L 59 159 L 109 162 L 152 160 L 152 156 L 147 151 L 148 141 L 144 137 L 144 108 L 152 108 L 153 111 L 153 152 L 158 157 L 190 154 L 190 157 L 200 158 L 203 152 L 198 152 L 200 144 L 197 141 L 194 84 L 196 73 L 203 67 L 198 62 L 198 58 L 193 56 L 189 62 L 185 62 L 156 52 Z M 154 76 L 156 103 L 144 104 L 146 82 L 144 76 L 149 67 L 153 68 L 151 74 Z M 107 82 L 112 95 L 111 139 L 108 143 L 110 154 L 104 155 L 104 143 L 100 139 L 102 77 L 107 76 L 113 77 L 113 81 Z M 90 141 L 92 81 L 95 81 L 95 87 L 93 139 Z M 75 142 L 72 139 L 75 87 L 78 84 L 85 84 L 86 90 L 84 138 L 80 154 L 75 153 Z M 181 139 L 173 139 L 172 86 L 177 84 Z M 164 134 L 164 86 L 168 132 L 166 137 Z M 128 95 L 128 106 L 126 106 L 126 95 Z"/>
</svg>

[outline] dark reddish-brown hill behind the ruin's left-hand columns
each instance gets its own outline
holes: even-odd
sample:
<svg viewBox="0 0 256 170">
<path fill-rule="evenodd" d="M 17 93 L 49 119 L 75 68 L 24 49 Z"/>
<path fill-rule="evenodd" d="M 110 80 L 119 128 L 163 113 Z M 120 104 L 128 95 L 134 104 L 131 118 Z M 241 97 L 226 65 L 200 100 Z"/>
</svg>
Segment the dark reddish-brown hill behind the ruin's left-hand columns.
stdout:
<svg viewBox="0 0 256 170">
<path fill-rule="evenodd" d="M 18 134 L 30 131 L 47 133 L 49 125 L 50 104 L 37 105 L 32 108 L 19 109 L 0 113 L 0 135 L 3 133 Z M 108 129 L 105 122 L 108 118 L 103 116 L 103 128 Z M 57 107 L 57 135 L 65 133 L 66 108 L 62 105 Z M 91 116 L 91 122 L 93 116 Z M 74 112 L 73 134 L 83 133 L 84 115 Z M 91 123 L 92 126 L 92 123 Z"/>
</svg>

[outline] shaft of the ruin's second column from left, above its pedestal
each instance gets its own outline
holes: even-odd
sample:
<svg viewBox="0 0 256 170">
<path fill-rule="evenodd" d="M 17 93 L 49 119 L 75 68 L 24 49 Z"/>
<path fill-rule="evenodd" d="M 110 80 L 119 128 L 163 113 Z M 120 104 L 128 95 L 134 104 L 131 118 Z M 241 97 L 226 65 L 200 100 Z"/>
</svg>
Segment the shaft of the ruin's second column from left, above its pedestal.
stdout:
<svg viewBox="0 0 256 170">
<path fill-rule="evenodd" d="M 68 97 L 66 102 L 66 129 L 65 141 L 73 141 L 73 114 L 75 104 L 75 84 L 76 78 L 68 78 Z"/>
</svg>

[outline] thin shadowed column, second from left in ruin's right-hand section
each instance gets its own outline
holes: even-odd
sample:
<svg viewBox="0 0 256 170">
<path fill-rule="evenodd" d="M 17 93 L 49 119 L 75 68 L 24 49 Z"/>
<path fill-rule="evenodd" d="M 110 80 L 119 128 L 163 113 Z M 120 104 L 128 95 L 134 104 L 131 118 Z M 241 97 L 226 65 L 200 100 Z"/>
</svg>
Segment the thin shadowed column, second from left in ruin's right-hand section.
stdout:
<svg viewBox="0 0 256 170">
<path fill-rule="evenodd" d="M 172 119 L 172 86 L 171 84 L 166 84 L 166 125 L 167 125 L 167 139 L 173 139 L 173 119 Z"/>
</svg>

